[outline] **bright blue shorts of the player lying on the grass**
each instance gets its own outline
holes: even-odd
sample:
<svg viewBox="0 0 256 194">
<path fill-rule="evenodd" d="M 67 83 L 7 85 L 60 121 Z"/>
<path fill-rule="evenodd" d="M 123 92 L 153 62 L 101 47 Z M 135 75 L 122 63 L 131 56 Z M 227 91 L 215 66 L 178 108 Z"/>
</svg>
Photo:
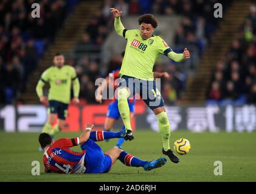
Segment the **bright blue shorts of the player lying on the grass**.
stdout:
<svg viewBox="0 0 256 194">
<path fill-rule="evenodd" d="M 111 158 L 105 155 L 92 139 L 88 139 L 81 144 L 81 149 L 85 152 L 85 173 L 107 173 L 111 169 Z"/>
</svg>

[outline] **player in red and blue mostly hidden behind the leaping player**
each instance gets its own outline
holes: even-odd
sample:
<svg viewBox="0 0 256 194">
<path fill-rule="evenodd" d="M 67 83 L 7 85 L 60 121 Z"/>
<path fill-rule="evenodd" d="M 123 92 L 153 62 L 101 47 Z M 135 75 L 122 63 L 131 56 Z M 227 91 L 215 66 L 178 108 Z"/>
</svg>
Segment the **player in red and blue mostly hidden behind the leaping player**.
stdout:
<svg viewBox="0 0 256 194">
<path fill-rule="evenodd" d="M 122 57 L 125 55 L 125 52 L 122 52 Z M 105 82 L 99 85 L 97 89 L 97 95 L 95 96 L 95 100 L 97 102 L 102 103 L 102 92 L 108 85 L 114 85 L 114 90 L 117 89 L 117 86 L 114 84 L 116 79 L 119 79 L 119 72 L 120 68 L 114 70 L 112 73 L 109 74 L 108 77 L 105 78 Z M 167 72 L 154 72 L 154 79 L 155 78 L 169 78 Z M 135 109 L 135 100 L 133 98 L 127 99 L 129 109 L 130 109 L 130 119 L 134 117 L 134 109 Z M 110 131 L 114 126 L 114 123 L 120 118 L 120 113 L 118 110 L 118 101 L 117 99 L 113 99 L 113 101 L 108 106 L 108 113 L 106 114 L 106 120 L 104 125 L 104 130 Z M 125 130 L 125 125 L 123 125 L 122 130 Z M 117 140 L 116 146 L 122 149 L 122 144 L 125 141 L 123 138 L 119 138 Z"/>
</svg>

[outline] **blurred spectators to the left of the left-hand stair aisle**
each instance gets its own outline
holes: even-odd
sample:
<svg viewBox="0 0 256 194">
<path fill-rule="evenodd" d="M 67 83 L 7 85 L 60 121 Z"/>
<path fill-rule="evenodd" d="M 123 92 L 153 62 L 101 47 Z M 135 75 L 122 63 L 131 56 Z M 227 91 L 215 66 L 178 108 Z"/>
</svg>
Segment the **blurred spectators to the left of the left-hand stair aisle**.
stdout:
<svg viewBox="0 0 256 194">
<path fill-rule="evenodd" d="M 32 17 L 32 4 L 40 18 Z M 0 1 L 0 103 L 10 104 L 26 92 L 29 75 L 76 1 Z"/>
</svg>

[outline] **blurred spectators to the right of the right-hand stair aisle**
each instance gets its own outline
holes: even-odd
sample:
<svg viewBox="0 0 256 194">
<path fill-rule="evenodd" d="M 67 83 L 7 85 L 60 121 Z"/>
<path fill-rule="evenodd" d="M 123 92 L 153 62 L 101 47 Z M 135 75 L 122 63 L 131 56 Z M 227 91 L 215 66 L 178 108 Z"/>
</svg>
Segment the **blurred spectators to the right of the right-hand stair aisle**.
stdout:
<svg viewBox="0 0 256 194">
<path fill-rule="evenodd" d="M 226 57 L 216 64 L 207 91 L 207 104 L 244 103 L 256 103 L 256 4 Z"/>
</svg>

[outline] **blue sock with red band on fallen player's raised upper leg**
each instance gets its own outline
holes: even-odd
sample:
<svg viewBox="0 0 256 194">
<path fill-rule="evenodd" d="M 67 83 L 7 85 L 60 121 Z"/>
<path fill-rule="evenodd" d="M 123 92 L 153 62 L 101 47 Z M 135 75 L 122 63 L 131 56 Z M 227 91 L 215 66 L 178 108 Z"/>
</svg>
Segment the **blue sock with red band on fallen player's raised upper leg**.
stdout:
<svg viewBox="0 0 256 194">
<path fill-rule="evenodd" d="M 121 138 L 122 132 L 103 132 L 93 131 L 90 134 L 90 139 L 93 141 L 103 141 L 104 139 Z"/>
</svg>

